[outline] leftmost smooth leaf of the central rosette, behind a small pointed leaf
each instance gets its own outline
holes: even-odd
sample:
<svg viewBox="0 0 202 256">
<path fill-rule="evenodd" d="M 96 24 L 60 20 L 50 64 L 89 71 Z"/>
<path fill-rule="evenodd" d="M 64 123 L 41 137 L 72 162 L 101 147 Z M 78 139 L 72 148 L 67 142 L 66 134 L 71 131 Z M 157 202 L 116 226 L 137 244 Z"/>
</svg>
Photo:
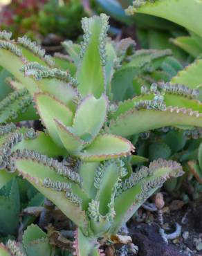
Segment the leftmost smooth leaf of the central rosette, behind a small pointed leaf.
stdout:
<svg viewBox="0 0 202 256">
<path fill-rule="evenodd" d="M 35 95 L 35 102 L 48 133 L 54 142 L 62 147 L 62 142 L 57 134 L 55 119 L 62 121 L 66 126 L 71 126 L 73 122 L 72 111 L 62 104 L 62 102 L 59 102 L 59 100 L 48 94 L 37 93 Z"/>
</svg>

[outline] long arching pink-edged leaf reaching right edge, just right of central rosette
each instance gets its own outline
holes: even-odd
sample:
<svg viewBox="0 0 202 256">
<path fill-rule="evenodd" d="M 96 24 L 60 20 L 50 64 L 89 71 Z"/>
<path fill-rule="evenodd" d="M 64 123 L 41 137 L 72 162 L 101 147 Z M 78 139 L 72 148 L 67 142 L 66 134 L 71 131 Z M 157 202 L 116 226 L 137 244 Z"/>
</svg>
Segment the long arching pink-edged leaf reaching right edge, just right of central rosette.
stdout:
<svg viewBox="0 0 202 256">
<path fill-rule="evenodd" d="M 169 107 L 165 111 L 130 109 L 111 120 L 109 131 L 120 136 L 131 136 L 160 127 L 187 125 L 202 127 L 201 113 L 185 108 Z"/>
</svg>

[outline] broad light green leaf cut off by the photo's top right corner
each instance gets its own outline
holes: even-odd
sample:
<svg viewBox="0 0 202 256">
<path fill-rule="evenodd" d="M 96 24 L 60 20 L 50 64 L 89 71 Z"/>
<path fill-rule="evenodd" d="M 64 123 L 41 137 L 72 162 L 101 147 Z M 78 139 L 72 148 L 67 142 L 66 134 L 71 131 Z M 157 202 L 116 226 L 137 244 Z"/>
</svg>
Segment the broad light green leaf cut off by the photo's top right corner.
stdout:
<svg viewBox="0 0 202 256">
<path fill-rule="evenodd" d="M 139 3 L 139 1 L 138 1 Z M 142 1 L 140 7 L 137 7 L 136 1 L 134 1 L 134 9 L 129 8 L 128 12 L 140 12 L 147 15 L 154 15 L 173 21 L 176 24 L 184 26 L 185 28 L 193 31 L 194 33 L 202 36 L 201 29 L 201 12 L 202 3 L 198 0 L 157 0 Z"/>
</svg>

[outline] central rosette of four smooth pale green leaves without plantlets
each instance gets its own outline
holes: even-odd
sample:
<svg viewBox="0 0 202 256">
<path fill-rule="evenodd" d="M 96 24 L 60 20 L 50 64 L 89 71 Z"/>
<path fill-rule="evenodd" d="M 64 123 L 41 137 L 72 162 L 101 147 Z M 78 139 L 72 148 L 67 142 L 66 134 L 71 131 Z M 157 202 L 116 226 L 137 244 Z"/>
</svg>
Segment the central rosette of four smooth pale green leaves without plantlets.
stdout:
<svg viewBox="0 0 202 256">
<path fill-rule="evenodd" d="M 134 150 L 129 140 L 113 134 L 98 135 L 107 118 L 108 100 L 105 95 L 99 99 L 87 96 L 75 113 L 47 94 L 38 93 L 35 102 L 50 136 L 72 156 L 84 161 L 103 161 Z"/>
</svg>

